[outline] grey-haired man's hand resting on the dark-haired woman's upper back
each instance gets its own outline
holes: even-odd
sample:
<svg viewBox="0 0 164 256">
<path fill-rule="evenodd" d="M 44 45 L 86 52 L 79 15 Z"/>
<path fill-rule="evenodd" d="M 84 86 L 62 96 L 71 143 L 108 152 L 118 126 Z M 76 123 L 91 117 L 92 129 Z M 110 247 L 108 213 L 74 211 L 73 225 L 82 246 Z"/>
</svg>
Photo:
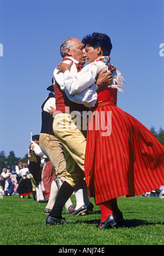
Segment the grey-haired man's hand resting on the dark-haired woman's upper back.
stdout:
<svg viewBox="0 0 164 256">
<path fill-rule="evenodd" d="M 107 69 L 102 69 L 96 80 L 96 85 L 100 88 L 112 84 L 112 72 L 107 72 Z"/>
</svg>

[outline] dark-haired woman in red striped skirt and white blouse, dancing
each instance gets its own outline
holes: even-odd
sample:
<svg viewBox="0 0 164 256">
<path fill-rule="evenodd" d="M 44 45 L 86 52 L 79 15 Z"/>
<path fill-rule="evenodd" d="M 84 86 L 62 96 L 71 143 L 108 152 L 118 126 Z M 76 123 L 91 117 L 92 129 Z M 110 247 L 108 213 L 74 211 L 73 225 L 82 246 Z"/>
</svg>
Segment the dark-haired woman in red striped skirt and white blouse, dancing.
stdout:
<svg viewBox="0 0 164 256">
<path fill-rule="evenodd" d="M 106 62 L 108 70 L 115 70 L 109 63 L 110 58 L 106 57 L 112 49 L 106 34 L 93 33 L 82 42 L 89 65 L 80 71 L 83 79 L 78 75 L 71 78 L 68 71 L 65 72 L 71 65 L 60 65 L 66 83 L 69 79 L 77 79 L 76 83 L 80 84 L 82 79 L 84 84 L 87 72 L 95 68 L 96 62 Z M 96 78 L 95 71 L 93 73 Z M 94 197 L 101 208 L 101 229 L 124 224 L 117 197 L 140 195 L 164 184 L 164 147 L 138 120 L 116 106 L 117 91 L 122 90 L 121 82 L 118 72 L 112 86 L 97 90 L 97 102 L 91 108 L 87 130 L 85 178 L 89 196 Z M 108 120 L 109 114 L 112 114 L 112 119 Z"/>
</svg>

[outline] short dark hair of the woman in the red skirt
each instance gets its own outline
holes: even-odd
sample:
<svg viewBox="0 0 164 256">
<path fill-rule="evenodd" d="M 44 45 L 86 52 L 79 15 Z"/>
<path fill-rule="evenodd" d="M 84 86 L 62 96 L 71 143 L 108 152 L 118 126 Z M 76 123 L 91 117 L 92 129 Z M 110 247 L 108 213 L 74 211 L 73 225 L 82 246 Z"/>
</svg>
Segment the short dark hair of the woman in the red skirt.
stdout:
<svg viewBox="0 0 164 256">
<path fill-rule="evenodd" d="M 93 48 L 101 47 L 104 56 L 109 56 L 110 51 L 112 50 L 112 43 L 107 34 L 102 33 L 92 33 L 88 34 L 83 38 L 82 43 L 84 46 L 89 44 Z"/>
</svg>

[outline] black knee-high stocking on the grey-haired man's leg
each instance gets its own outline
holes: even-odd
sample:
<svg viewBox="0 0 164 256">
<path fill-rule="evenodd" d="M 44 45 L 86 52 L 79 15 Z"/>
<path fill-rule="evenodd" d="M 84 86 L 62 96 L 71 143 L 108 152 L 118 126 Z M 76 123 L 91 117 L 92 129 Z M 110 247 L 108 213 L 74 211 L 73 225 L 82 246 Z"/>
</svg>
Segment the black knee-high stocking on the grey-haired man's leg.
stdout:
<svg viewBox="0 0 164 256">
<path fill-rule="evenodd" d="M 60 190 L 58 191 L 56 201 L 49 216 L 55 217 L 57 219 L 62 219 L 61 214 L 63 207 L 65 206 L 65 203 L 67 202 L 69 197 L 72 195 L 73 191 L 74 189 L 71 187 L 71 185 L 69 185 L 67 182 L 63 182 Z"/>
</svg>

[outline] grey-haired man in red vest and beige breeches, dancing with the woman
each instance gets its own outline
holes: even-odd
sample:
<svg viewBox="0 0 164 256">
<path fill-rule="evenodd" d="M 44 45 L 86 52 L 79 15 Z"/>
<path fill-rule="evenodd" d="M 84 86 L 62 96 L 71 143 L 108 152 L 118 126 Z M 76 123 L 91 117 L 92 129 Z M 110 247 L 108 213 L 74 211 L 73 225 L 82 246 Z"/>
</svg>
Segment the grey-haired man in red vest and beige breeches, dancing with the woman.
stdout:
<svg viewBox="0 0 164 256">
<path fill-rule="evenodd" d="M 61 44 L 61 56 L 64 58 L 63 61 L 73 62 L 71 72 L 74 74 L 79 72 L 85 63 L 85 49 L 84 45 L 77 38 L 67 38 Z M 54 71 L 55 78 L 55 98 L 56 98 L 56 112 L 53 123 L 53 129 L 55 136 L 63 144 L 65 152 L 65 158 L 67 162 L 67 177 L 66 181 L 62 184 L 55 201 L 54 207 L 51 213 L 46 218 L 46 225 L 54 225 L 55 223 L 67 224 L 65 219 L 62 218 L 62 208 L 65 205 L 67 199 L 72 195 L 73 191 L 77 188 L 84 188 L 84 159 L 85 159 L 85 148 L 86 148 L 86 130 L 79 129 L 81 125 L 81 118 L 83 111 L 89 110 L 83 104 L 77 104 L 69 101 L 65 94 L 65 84 L 63 81 L 63 74 L 58 73 L 58 70 Z M 103 72 L 102 72 L 103 73 Z M 105 84 L 110 84 L 112 80 L 111 73 L 103 73 L 102 75 Z M 101 76 L 97 79 L 97 85 L 102 84 Z M 92 85 L 92 81 L 91 85 Z M 71 88 L 71 85 L 70 85 Z M 77 118 L 74 123 L 74 119 L 71 113 L 77 114 Z M 80 114 L 80 115 L 79 115 Z M 67 191 L 67 192 L 66 192 Z M 87 194 L 86 184 L 85 193 Z M 87 211 L 86 205 L 82 205 L 75 208 L 73 215 L 83 214 Z"/>
</svg>

